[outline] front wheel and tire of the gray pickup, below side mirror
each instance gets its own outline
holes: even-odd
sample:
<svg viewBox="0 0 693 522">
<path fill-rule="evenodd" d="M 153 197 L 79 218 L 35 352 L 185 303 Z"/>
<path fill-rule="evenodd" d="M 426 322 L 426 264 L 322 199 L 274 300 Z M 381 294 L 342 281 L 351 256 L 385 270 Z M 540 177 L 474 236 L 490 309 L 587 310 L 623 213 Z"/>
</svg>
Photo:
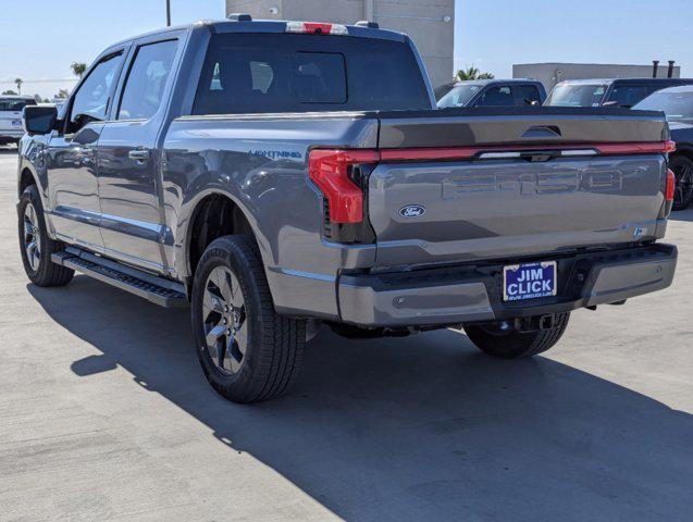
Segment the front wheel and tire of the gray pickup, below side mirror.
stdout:
<svg viewBox="0 0 693 522">
<path fill-rule="evenodd" d="M 44 206 L 36 185 L 28 186 L 22 194 L 17 228 L 24 271 L 32 283 L 44 287 L 70 283 L 75 272 L 51 261 L 51 256 L 65 247 L 51 239 L 46 232 Z"/>
</svg>

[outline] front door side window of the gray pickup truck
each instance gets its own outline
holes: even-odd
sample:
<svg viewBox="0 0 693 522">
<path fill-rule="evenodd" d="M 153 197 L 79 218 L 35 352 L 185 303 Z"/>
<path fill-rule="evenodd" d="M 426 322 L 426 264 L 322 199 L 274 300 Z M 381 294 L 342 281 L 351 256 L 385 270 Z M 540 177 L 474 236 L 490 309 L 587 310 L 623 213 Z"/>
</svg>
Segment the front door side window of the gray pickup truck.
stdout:
<svg viewBox="0 0 693 522">
<path fill-rule="evenodd" d="M 111 87 L 122 60 L 122 53 L 111 54 L 91 70 L 73 98 L 69 132 L 74 133 L 90 121 L 106 119 Z"/>
</svg>

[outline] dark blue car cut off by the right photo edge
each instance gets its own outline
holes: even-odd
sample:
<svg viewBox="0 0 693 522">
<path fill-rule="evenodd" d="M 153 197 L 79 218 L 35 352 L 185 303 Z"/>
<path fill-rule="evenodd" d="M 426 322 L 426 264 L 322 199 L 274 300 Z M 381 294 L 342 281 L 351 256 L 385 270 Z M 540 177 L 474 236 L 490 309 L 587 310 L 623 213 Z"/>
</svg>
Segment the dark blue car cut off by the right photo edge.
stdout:
<svg viewBox="0 0 693 522">
<path fill-rule="evenodd" d="M 669 121 L 677 150 L 669 157 L 669 167 L 677 177 L 675 210 L 685 209 L 693 200 L 693 86 L 658 90 L 633 109 L 664 111 Z"/>
</svg>

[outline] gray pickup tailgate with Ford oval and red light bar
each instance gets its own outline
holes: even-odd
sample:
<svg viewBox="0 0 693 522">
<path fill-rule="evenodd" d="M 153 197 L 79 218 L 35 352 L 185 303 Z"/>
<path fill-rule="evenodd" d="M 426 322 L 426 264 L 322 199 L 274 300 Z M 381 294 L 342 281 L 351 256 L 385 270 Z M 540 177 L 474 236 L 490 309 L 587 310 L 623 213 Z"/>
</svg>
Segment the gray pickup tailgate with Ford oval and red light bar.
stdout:
<svg viewBox="0 0 693 522">
<path fill-rule="evenodd" d="M 369 179 L 379 265 L 657 237 L 667 171 L 661 114 L 469 112 L 382 119 L 383 162 Z"/>
</svg>

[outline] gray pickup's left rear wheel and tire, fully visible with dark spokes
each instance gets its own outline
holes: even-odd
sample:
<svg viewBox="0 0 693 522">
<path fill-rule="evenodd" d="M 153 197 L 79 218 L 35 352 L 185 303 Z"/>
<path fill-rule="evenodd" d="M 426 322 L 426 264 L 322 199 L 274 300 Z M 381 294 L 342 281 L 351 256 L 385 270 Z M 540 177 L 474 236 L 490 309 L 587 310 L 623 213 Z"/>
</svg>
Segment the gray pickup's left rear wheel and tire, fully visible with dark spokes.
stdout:
<svg viewBox="0 0 693 522">
<path fill-rule="evenodd" d="M 193 283 L 191 318 L 202 371 L 223 397 L 259 402 L 296 381 L 306 323 L 274 310 L 252 238 L 225 236 L 207 247 Z"/>
</svg>

